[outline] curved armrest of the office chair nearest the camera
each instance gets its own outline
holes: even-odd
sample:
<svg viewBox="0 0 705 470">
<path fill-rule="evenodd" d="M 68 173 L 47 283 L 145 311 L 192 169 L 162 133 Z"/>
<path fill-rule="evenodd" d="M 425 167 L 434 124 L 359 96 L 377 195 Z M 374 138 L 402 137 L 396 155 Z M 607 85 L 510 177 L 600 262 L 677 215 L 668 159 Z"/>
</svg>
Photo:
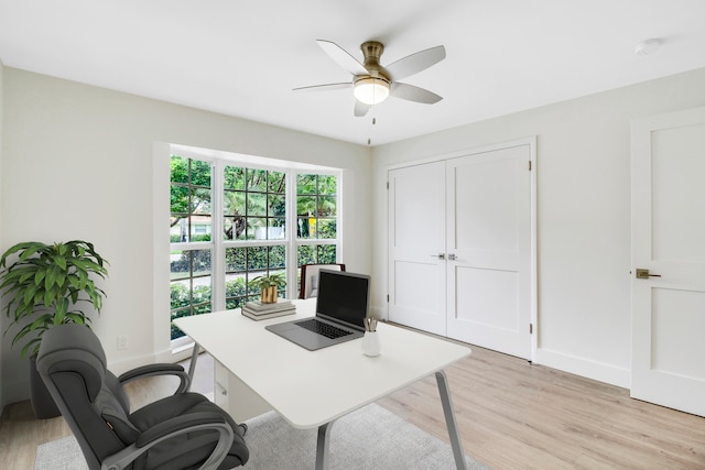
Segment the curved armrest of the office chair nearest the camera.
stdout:
<svg viewBox="0 0 705 470">
<path fill-rule="evenodd" d="M 102 461 L 101 469 L 124 469 L 153 446 L 182 434 L 195 433 L 198 430 L 218 431 L 218 444 L 215 449 L 213 449 L 208 460 L 206 460 L 206 462 L 200 467 L 200 470 L 217 469 L 228 456 L 228 450 L 232 445 L 235 434 L 223 415 L 212 412 L 189 413 L 187 415 L 177 416 L 160 423 L 153 428 L 148 429 L 145 433 L 142 433 L 137 442 L 113 453 L 112 456 L 107 457 Z"/>
</svg>

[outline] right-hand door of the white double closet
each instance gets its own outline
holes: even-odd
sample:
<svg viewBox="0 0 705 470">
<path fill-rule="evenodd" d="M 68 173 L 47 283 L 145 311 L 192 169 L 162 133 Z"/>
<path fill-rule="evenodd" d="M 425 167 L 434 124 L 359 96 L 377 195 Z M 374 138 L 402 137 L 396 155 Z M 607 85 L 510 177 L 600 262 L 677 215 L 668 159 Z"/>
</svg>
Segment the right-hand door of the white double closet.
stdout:
<svg viewBox="0 0 705 470">
<path fill-rule="evenodd" d="M 448 337 L 531 358 L 530 145 L 447 161 Z"/>
</svg>

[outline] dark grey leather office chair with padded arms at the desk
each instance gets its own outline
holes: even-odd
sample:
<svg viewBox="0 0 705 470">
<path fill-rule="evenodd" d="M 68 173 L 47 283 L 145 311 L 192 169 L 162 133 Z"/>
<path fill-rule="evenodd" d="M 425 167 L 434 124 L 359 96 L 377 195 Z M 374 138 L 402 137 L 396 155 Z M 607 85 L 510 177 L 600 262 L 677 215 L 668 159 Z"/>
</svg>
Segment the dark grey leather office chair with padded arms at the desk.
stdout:
<svg viewBox="0 0 705 470">
<path fill-rule="evenodd" d="M 181 365 L 145 365 L 117 378 L 93 330 L 66 324 L 44 334 L 36 368 L 91 470 L 230 469 L 248 461 L 246 428 L 186 392 Z M 181 378 L 176 393 L 130 413 L 122 384 L 164 373 Z"/>
</svg>

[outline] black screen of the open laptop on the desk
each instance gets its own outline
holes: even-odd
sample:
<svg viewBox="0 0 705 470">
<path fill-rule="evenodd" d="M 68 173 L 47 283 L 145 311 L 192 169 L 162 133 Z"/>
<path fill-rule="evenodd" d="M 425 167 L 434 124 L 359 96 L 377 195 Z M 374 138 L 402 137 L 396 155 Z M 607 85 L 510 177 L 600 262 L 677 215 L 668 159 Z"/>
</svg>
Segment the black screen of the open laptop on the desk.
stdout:
<svg viewBox="0 0 705 470">
<path fill-rule="evenodd" d="M 365 328 L 369 294 L 370 276 L 321 270 L 316 315 Z"/>
</svg>

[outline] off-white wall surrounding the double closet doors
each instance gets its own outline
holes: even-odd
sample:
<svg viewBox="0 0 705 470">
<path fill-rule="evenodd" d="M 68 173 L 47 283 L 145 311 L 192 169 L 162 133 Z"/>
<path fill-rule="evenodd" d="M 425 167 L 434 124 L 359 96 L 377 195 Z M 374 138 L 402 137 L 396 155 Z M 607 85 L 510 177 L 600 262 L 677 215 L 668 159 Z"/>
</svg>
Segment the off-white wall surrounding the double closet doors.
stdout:
<svg viewBox="0 0 705 470">
<path fill-rule="evenodd" d="M 375 149 L 373 278 L 387 278 L 390 165 L 536 135 L 536 362 L 629 386 L 630 119 L 703 106 L 703 84 L 697 69 Z"/>
</svg>

